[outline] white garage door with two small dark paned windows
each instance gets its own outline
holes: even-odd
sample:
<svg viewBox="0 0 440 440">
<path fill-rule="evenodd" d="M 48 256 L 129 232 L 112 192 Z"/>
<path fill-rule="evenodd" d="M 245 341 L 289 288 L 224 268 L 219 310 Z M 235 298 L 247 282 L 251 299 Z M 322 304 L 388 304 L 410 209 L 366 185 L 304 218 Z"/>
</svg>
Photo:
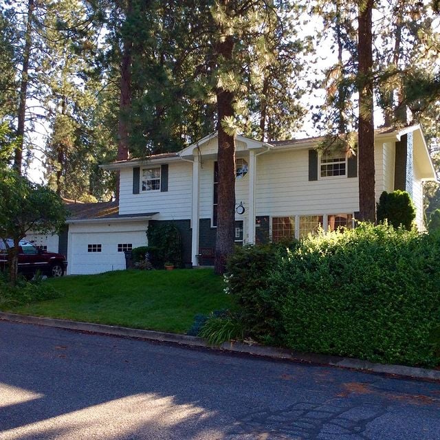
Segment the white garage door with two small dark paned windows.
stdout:
<svg viewBox="0 0 440 440">
<path fill-rule="evenodd" d="M 71 247 L 67 273 L 100 274 L 125 269 L 124 250 L 146 245 L 145 230 L 138 232 L 77 232 L 69 236 Z"/>
</svg>

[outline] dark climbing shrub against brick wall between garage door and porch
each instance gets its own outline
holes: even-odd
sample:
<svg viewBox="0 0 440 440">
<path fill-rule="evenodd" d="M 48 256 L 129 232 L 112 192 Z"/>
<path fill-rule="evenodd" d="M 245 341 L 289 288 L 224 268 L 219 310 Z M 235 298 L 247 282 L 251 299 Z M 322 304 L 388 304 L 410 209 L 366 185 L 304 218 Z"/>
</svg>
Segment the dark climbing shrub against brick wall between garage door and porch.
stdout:
<svg viewBox="0 0 440 440">
<path fill-rule="evenodd" d="M 165 262 L 181 266 L 181 239 L 177 226 L 172 221 L 153 223 L 151 221 L 146 232 L 148 245 L 154 248 L 154 264 L 164 267 Z"/>
</svg>

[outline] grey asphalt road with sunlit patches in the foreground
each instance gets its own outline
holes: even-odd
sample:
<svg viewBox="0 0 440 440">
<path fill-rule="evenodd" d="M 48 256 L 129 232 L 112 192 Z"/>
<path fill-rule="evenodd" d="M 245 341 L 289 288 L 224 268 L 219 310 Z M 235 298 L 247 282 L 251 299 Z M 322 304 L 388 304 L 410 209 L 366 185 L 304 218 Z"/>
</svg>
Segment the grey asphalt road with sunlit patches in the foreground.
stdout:
<svg viewBox="0 0 440 440">
<path fill-rule="evenodd" d="M 440 384 L 0 321 L 0 439 L 440 440 Z"/>
</svg>

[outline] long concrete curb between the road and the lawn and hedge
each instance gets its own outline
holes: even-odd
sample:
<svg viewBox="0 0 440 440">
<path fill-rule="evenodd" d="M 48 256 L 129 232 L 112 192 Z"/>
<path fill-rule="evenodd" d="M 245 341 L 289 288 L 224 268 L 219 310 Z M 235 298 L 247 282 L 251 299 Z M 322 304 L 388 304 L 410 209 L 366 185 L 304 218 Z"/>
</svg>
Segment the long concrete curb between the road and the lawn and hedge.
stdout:
<svg viewBox="0 0 440 440">
<path fill-rule="evenodd" d="M 291 360 L 294 362 L 307 362 L 309 364 L 335 366 L 345 369 L 355 369 L 366 373 L 382 373 L 400 377 L 410 377 L 419 380 L 440 381 L 440 371 L 421 369 L 414 366 L 375 364 L 366 360 L 342 358 L 340 356 L 318 355 L 314 353 L 298 353 L 289 349 L 265 347 L 262 345 L 243 344 L 243 342 L 223 342 L 220 347 L 212 347 L 205 340 L 196 336 L 179 335 L 177 333 L 164 333 L 161 331 L 130 329 L 113 325 L 89 324 L 88 322 L 69 321 L 54 318 L 39 318 L 37 316 L 24 316 L 0 312 L 0 320 L 20 322 L 22 324 L 44 325 L 76 331 L 101 333 L 104 335 L 125 336 L 128 338 L 142 338 L 158 342 L 171 342 L 189 347 L 202 347 L 244 353 L 248 355 L 263 356 L 265 358 Z"/>
</svg>

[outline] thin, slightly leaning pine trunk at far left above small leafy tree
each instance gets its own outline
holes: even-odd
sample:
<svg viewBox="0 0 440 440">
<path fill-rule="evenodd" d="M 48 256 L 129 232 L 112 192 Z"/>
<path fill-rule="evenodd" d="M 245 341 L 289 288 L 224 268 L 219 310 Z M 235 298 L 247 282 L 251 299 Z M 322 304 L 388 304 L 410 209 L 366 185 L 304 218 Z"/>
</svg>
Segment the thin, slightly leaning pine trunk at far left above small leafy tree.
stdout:
<svg viewBox="0 0 440 440">
<path fill-rule="evenodd" d="M 21 175 L 21 166 L 23 163 L 23 144 L 26 122 L 26 98 L 28 95 L 29 83 L 29 58 L 32 47 L 32 14 L 34 14 L 34 0 L 28 0 L 28 20 L 25 32 L 25 47 L 23 50 L 23 69 L 21 70 L 20 101 L 19 114 L 17 120 L 17 138 L 18 144 L 14 151 L 14 170 Z"/>
</svg>

